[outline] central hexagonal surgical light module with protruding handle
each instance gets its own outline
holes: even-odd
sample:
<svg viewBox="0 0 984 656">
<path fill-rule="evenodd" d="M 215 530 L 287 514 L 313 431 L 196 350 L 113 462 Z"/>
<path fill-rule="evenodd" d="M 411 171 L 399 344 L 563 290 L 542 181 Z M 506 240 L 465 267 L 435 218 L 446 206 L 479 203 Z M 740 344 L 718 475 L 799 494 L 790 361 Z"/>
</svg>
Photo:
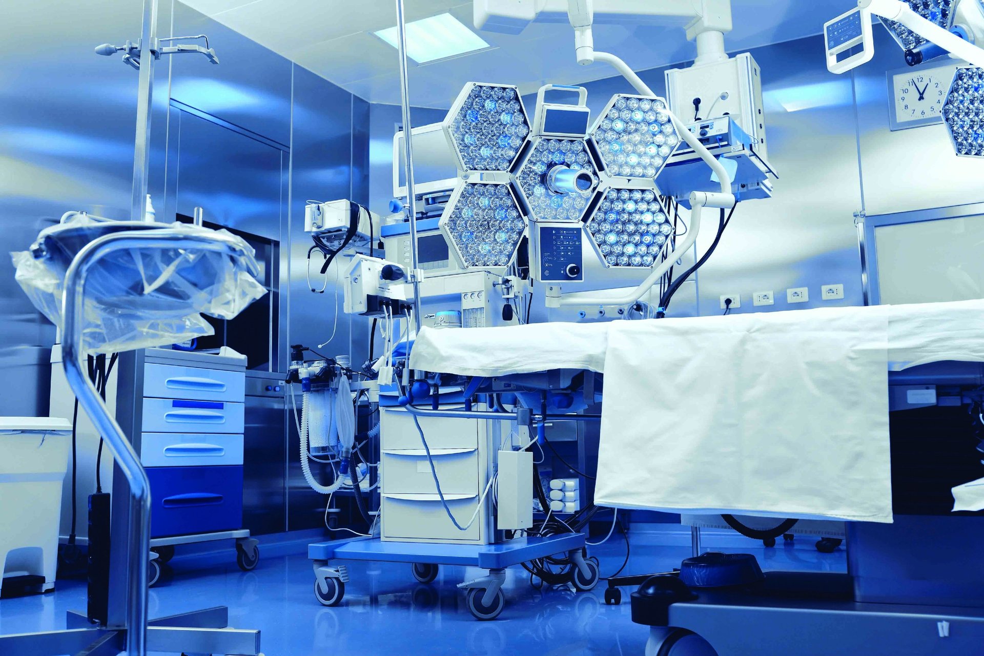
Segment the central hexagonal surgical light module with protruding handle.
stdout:
<svg viewBox="0 0 984 656">
<path fill-rule="evenodd" d="M 583 139 L 541 137 L 516 172 L 516 182 L 534 221 L 580 221 L 598 170 Z"/>
</svg>

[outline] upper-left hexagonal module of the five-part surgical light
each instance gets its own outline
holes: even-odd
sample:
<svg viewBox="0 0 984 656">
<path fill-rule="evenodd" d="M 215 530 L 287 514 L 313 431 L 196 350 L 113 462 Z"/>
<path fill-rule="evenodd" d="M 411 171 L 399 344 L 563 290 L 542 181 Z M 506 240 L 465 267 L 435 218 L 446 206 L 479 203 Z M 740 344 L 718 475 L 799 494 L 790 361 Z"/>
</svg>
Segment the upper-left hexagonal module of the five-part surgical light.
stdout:
<svg viewBox="0 0 984 656">
<path fill-rule="evenodd" d="M 529 134 L 518 88 L 469 82 L 444 120 L 462 171 L 508 171 Z"/>
</svg>

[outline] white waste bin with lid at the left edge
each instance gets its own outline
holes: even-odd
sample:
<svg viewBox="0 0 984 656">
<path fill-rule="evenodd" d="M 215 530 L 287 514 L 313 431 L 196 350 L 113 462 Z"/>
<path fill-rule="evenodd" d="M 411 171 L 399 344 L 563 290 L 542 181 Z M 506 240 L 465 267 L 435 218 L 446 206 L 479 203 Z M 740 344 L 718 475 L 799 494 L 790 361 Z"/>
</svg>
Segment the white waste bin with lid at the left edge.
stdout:
<svg viewBox="0 0 984 656">
<path fill-rule="evenodd" d="M 66 419 L 0 417 L 0 572 L 44 576 L 37 592 L 55 586 L 71 436 Z"/>
</svg>

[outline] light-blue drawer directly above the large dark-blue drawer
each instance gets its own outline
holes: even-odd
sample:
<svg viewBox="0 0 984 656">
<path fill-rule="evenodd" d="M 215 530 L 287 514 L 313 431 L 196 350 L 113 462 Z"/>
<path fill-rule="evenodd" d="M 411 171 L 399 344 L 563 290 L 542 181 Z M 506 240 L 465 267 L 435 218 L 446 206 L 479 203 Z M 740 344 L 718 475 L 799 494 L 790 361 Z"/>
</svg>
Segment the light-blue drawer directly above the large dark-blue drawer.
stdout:
<svg viewBox="0 0 984 656">
<path fill-rule="evenodd" d="M 242 464 L 243 436 L 222 433 L 145 433 L 140 446 L 145 467 L 201 467 Z"/>
</svg>

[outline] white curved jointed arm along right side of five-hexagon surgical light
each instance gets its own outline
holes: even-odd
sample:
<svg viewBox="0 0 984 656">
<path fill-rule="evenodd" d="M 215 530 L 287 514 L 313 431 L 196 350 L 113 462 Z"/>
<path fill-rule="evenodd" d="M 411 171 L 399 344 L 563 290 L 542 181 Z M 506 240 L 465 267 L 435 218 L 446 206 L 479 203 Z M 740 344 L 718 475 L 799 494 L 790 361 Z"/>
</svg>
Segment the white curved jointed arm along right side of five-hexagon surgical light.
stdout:
<svg viewBox="0 0 984 656">
<path fill-rule="evenodd" d="M 622 61 L 619 57 L 608 53 L 608 52 L 594 52 L 593 60 L 596 62 L 603 62 L 605 64 L 611 65 L 616 71 L 618 71 L 622 77 L 629 81 L 637 91 L 646 95 L 648 97 L 656 97 L 656 94 L 649 89 L 642 78 L 636 75 L 628 64 Z M 717 180 L 720 183 L 721 191 L 720 193 L 713 192 L 694 192 L 690 195 L 691 203 L 691 215 L 690 215 L 690 226 L 687 230 L 687 236 L 680 243 L 673 252 L 670 253 L 666 260 L 662 262 L 658 267 L 653 268 L 652 271 L 646 276 L 635 289 L 625 292 L 619 296 L 608 296 L 603 294 L 597 294 L 596 292 L 574 292 L 570 294 L 561 294 L 559 299 L 559 305 L 561 307 L 573 306 L 573 305 L 629 305 L 635 303 L 643 296 L 645 296 L 652 285 L 663 276 L 674 263 L 679 260 L 684 253 L 686 253 L 697 241 L 697 236 L 701 231 L 701 210 L 703 208 L 722 208 L 729 209 L 735 206 L 735 197 L 731 193 L 731 176 L 728 174 L 724 166 L 719 162 L 714 155 L 710 154 L 710 151 L 705 148 L 701 140 L 698 139 L 690 130 L 687 129 L 679 118 L 666 108 L 666 113 L 670 115 L 670 119 L 673 121 L 673 127 L 676 128 L 677 133 L 683 138 L 687 145 L 694 149 L 695 152 L 703 159 L 707 166 L 714 172 L 717 176 Z M 549 303 L 549 301 L 548 301 Z"/>
</svg>

